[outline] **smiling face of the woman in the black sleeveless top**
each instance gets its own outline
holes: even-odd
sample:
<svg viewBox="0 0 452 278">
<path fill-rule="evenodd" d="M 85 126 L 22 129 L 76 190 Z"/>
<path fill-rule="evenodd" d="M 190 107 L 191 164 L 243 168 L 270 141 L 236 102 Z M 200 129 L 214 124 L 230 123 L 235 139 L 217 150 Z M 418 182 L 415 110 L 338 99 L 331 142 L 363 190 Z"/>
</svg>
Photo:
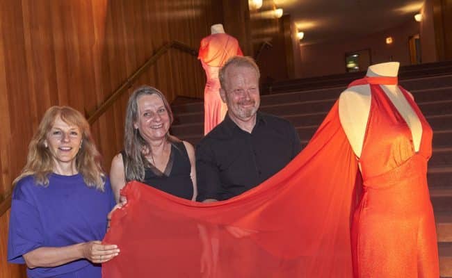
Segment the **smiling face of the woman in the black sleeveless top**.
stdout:
<svg viewBox="0 0 452 278">
<path fill-rule="evenodd" d="M 170 129 L 170 115 L 159 95 L 142 95 L 138 97 L 138 119 L 134 128 L 147 141 L 166 138 Z"/>
</svg>

